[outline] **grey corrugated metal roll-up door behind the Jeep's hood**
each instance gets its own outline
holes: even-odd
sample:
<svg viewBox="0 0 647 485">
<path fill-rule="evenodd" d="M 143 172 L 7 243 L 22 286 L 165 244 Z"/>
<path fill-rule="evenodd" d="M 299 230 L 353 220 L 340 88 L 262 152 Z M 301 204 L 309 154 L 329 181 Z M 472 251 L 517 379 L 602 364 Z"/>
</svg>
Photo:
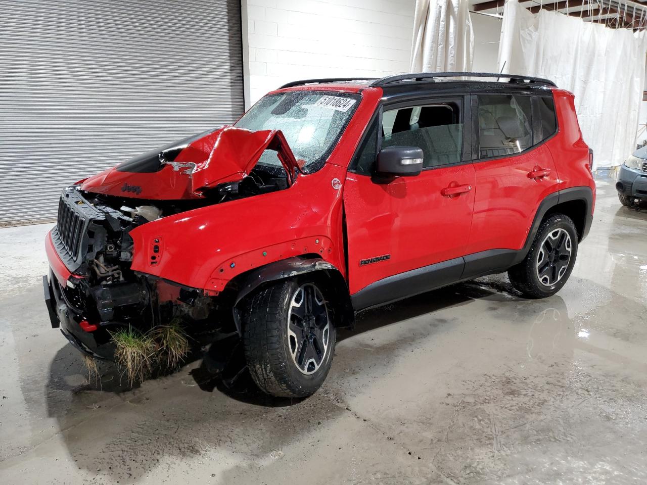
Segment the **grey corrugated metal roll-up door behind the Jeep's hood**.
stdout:
<svg viewBox="0 0 647 485">
<path fill-rule="evenodd" d="M 239 1 L 0 0 L 0 225 L 242 112 Z"/>
</svg>

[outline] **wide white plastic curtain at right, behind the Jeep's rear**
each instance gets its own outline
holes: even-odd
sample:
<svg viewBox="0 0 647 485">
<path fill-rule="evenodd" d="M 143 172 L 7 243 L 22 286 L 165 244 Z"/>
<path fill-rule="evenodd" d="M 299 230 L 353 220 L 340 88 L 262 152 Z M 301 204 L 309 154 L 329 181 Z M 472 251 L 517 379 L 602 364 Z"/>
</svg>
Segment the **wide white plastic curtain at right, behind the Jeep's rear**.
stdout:
<svg viewBox="0 0 647 485">
<path fill-rule="evenodd" d="M 594 169 L 618 166 L 636 148 L 646 53 L 645 32 L 505 3 L 499 72 L 548 78 L 575 94 Z"/>
</svg>

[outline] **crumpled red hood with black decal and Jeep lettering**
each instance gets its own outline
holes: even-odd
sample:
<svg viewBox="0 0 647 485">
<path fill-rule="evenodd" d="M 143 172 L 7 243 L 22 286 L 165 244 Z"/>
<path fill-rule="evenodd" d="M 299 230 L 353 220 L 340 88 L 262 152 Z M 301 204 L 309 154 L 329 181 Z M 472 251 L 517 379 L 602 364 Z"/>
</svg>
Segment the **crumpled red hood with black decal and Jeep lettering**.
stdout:
<svg viewBox="0 0 647 485">
<path fill-rule="evenodd" d="M 267 149 L 277 152 L 291 185 L 298 163 L 280 130 L 224 126 L 135 156 L 81 188 L 136 199 L 199 199 L 207 189 L 247 177 Z"/>
</svg>

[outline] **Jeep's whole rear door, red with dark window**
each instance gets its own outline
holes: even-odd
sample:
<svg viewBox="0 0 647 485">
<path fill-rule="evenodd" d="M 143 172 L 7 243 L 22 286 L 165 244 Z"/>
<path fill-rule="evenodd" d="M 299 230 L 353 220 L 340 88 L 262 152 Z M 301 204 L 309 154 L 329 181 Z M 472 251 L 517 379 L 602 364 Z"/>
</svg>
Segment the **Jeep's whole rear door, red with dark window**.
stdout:
<svg viewBox="0 0 647 485">
<path fill-rule="evenodd" d="M 472 110 L 477 191 L 466 254 L 519 250 L 540 202 L 558 189 L 553 157 L 543 143 L 556 131 L 553 98 L 477 94 Z"/>
</svg>

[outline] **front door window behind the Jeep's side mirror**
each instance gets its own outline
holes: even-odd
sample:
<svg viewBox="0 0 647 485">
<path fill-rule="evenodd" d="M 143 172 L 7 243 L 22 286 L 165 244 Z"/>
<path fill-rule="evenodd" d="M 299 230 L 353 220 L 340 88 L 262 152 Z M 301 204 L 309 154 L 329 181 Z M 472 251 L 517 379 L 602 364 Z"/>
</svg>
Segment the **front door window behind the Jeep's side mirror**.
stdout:
<svg viewBox="0 0 647 485">
<path fill-rule="evenodd" d="M 406 107 L 382 116 L 382 148 L 413 146 L 422 149 L 423 167 L 461 161 L 463 123 L 457 103 Z"/>
</svg>

